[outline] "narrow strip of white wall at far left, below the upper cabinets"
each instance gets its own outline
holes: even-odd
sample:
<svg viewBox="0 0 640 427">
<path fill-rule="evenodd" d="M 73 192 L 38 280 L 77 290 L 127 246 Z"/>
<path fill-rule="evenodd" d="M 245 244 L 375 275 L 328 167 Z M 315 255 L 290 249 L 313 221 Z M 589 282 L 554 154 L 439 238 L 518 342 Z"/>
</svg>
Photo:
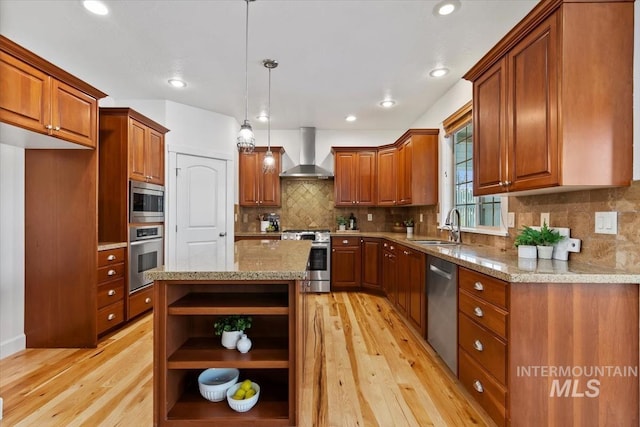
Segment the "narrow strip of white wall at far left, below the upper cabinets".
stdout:
<svg viewBox="0 0 640 427">
<path fill-rule="evenodd" d="M 0 359 L 25 346 L 24 149 L 0 144 Z"/>
</svg>

